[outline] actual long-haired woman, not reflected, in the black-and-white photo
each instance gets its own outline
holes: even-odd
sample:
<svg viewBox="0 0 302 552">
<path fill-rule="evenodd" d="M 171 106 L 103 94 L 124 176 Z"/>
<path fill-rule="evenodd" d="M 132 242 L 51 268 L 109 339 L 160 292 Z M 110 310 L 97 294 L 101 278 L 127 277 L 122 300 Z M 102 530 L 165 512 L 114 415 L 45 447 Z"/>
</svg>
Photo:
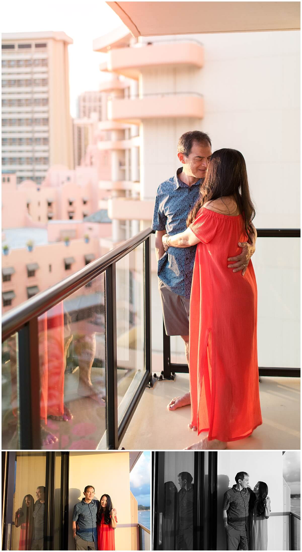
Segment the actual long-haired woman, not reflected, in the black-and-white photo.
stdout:
<svg viewBox="0 0 302 552">
<path fill-rule="evenodd" d="M 267 550 L 267 520 L 271 513 L 271 498 L 267 484 L 256 483 L 250 498 L 250 550 Z"/>
</svg>

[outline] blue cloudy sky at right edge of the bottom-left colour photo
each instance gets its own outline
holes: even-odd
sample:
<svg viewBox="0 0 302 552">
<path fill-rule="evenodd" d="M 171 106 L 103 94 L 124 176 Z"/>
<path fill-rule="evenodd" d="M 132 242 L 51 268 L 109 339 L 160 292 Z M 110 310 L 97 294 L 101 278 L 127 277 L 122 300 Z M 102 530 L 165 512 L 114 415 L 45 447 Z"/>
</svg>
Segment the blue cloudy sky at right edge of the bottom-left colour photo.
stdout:
<svg viewBox="0 0 302 552">
<path fill-rule="evenodd" d="M 137 503 L 150 506 L 150 452 L 143 452 L 130 471 L 130 490 Z"/>
</svg>

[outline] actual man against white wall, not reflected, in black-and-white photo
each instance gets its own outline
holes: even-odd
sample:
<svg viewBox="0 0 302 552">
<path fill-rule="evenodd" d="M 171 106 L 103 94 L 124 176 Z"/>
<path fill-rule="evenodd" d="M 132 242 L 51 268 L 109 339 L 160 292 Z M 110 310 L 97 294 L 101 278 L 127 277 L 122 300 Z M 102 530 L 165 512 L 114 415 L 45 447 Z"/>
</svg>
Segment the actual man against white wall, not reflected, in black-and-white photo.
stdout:
<svg viewBox="0 0 302 552">
<path fill-rule="evenodd" d="M 248 487 L 249 475 L 239 471 L 235 476 L 236 485 L 224 493 L 222 519 L 224 521 L 227 550 L 248 550 L 250 524 L 248 504 L 252 489 Z"/>
</svg>

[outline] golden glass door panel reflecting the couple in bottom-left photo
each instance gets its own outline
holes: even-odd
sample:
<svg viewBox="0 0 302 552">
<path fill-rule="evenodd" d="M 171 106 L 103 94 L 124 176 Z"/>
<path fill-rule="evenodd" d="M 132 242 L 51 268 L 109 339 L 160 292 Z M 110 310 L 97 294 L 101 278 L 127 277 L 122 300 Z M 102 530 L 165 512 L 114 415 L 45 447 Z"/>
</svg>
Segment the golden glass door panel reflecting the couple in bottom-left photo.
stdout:
<svg viewBox="0 0 302 552">
<path fill-rule="evenodd" d="M 9 550 L 44 550 L 45 473 L 46 453 L 17 453 Z"/>
</svg>

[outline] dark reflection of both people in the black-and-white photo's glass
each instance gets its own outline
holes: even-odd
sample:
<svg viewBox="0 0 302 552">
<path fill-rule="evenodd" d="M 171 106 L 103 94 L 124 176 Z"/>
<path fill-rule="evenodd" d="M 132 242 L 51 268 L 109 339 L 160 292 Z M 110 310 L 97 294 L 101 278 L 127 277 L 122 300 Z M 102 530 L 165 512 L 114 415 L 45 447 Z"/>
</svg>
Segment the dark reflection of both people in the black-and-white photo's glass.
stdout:
<svg viewBox="0 0 302 552">
<path fill-rule="evenodd" d="M 193 549 L 193 477 L 188 471 L 164 484 L 163 550 Z"/>
</svg>

